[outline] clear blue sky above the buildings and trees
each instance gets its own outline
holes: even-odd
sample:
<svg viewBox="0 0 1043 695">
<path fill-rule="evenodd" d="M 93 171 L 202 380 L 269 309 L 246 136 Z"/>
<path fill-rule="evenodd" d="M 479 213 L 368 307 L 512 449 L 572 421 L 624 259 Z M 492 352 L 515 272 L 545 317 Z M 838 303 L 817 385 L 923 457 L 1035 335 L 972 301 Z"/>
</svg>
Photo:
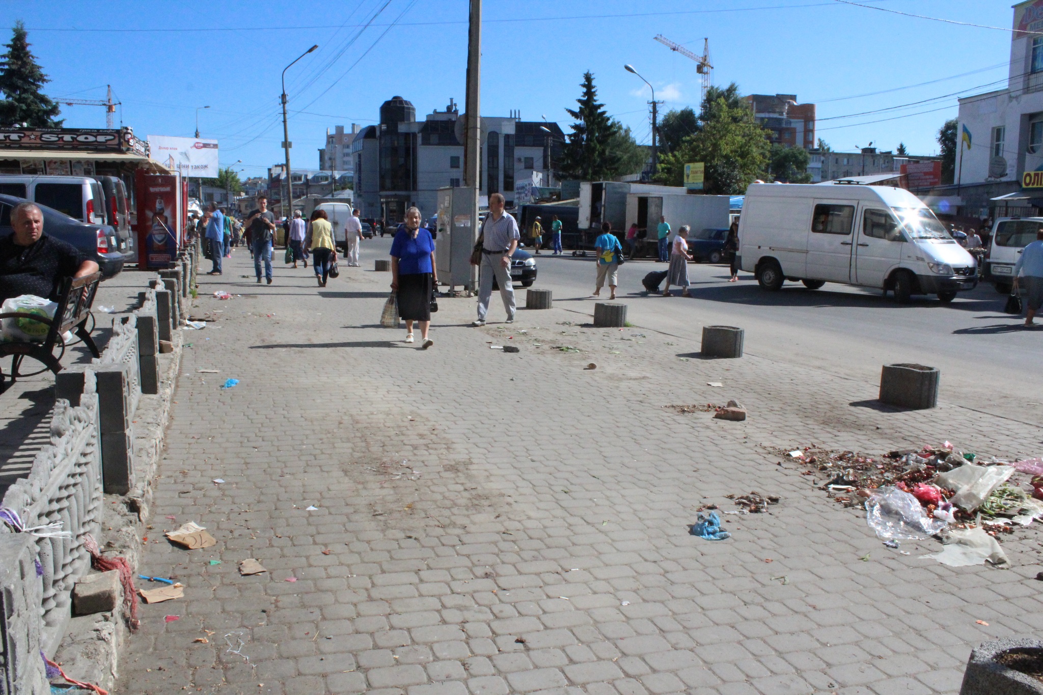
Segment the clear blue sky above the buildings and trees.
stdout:
<svg viewBox="0 0 1043 695">
<path fill-rule="evenodd" d="M 974 24 L 1012 23 L 1009 0 L 858 1 Z M 282 159 L 280 73 L 312 44 L 320 48 L 287 73 L 295 168 L 318 166 L 328 127 L 372 123 L 391 96 L 412 101 L 418 118 L 450 97 L 462 103 L 467 6 L 466 0 L 0 0 L 0 24 L 25 22 L 52 80 L 50 96 L 104 98 L 111 83 L 123 102 L 123 123 L 140 136 L 191 135 L 195 107 L 211 106 L 200 111 L 201 135 L 220 141 L 222 166 L 241 159 L 235 167 L 249 176 Z M 358 26 L 374 16 L 368 28 Z M 904 142 L 913 153 L 936 152 L 935 134 L 955 116 L 955 96 L 835 117 L 997 89 L 1010 58 L 1006 31 L 836 0 L 485 0 L 484 19 L 484 114 L 545 115 L 567 131 L 564 108 L 575 105 L 582 73 L 590 70 L 608 113 L 642 143 L 650 139 L 648 88 L 624 64 L 655 85 L 664 109 L 698 110 L 700 101 L 696 64 L 653 41 L 658 33 L 697 53 L 708 36 L 714 84 L 735 81 L 743 94 L 796 94 L 802 103 L 818 103 L 819 136 L 834 150 L 872 141 L 880 149 Z M 69 126 L 104 127 L 99 107 L 66 106 L 64 116 Z"/>
</svg>

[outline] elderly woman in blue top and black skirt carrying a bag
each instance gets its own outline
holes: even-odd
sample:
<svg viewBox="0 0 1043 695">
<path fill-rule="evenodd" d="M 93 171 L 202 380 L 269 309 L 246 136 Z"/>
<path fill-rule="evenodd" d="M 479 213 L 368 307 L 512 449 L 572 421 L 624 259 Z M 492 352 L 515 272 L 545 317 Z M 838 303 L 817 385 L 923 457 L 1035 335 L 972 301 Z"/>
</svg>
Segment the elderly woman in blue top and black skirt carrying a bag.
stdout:
<svg viewBox="0 0 1043 695">
<path fill-rule="evenodd" d="M 420 210 L 406 210 L 406 224 L 391 242 L 391 289 L 398 295 L 398 315 L 406 321 L 406 342 L 412 343 L 413 322 L 420 324 L 421 347 L 435 344 L 428 338 L 431 326 L 431 297 L 438 275 L 435 269 L 435 240 L 420 227 Z"/>
</svg>

